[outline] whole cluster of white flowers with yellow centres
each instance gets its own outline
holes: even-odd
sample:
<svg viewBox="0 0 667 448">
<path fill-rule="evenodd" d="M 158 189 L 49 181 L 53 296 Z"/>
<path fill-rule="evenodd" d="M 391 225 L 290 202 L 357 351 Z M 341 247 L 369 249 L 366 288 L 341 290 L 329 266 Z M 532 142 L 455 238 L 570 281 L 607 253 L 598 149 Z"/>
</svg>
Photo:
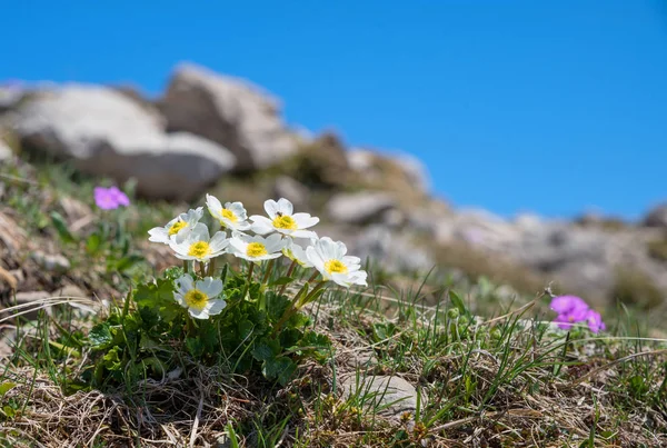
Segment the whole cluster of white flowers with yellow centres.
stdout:
<svg viewBox="0 0 667 448">
<path fill-rule="evenodd" d="M 241 202 L 222 202 L 207 195 L 206 205 L 218 222 L 220 230 L 212 236 L 209 228 L 199 222 L 203 208 L 181 213 L 165 227 L 148 231 L 149 241 L 169 245 L 176 257 L 186 261 L 199 261 L 207 265 L 216 257 L 231 253 L 253 263 L 286 256 L 305 268 L 315 268 L 323 280 L 334 281 L 346 288 L 352 285 L 367 286 L 366 271 L 361 270 L 358 257 L 347 256 L 347 247 L 329 237 L 318 238 L 309 230 L 319 222 L 319 218 L 309 213 L 295 213 L 292 203 L 281 198 L 265 202 L 268 215 L 253 215 L 248 218 Z M 228 236 L 227 231 L 231 235 Z M 248 230 L 255 235 L 246 233 Z M 226 303 L 218 299 L 222 292 L 222 281 L 207 277 L 192 281 L 183 276 L 177 281 L 175 295 L 179 303 L 189 308 L 195 318 L 207 319 L 222 311 Z"/>
</svg>

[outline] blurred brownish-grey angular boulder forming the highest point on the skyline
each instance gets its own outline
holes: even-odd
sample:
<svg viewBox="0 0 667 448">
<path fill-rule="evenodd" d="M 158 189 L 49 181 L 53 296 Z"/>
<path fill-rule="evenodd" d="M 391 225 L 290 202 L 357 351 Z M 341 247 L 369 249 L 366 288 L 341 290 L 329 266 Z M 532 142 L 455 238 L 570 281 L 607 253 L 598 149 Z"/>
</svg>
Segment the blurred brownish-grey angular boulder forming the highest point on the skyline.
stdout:
<svg viewBox="0 0 667 448">
<path fill-rule="evenodd" d="M 228 148 L 241 170 L 266 168 L 297 151 L 276 99 L 202 67 L 179 66 L 160 108 L 170 131 L 191 132 Z"/>
</svg>

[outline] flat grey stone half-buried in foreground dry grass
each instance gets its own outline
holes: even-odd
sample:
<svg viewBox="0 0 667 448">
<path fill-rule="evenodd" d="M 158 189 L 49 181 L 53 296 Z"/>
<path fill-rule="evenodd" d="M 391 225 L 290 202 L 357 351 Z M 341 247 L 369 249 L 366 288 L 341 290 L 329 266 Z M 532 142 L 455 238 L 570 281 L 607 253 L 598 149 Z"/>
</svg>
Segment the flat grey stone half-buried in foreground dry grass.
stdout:
<svg viewBox="0 0 667 448">
<path fill-rule="evenodd" d="M 345 398 L 355 397 L 368 410 L 381 407 L 378 415 L 389 419 L 417 410 L 417 390 L 400 377 L 349 375 L 340 379 L 340 388 Z"/>
</svg>

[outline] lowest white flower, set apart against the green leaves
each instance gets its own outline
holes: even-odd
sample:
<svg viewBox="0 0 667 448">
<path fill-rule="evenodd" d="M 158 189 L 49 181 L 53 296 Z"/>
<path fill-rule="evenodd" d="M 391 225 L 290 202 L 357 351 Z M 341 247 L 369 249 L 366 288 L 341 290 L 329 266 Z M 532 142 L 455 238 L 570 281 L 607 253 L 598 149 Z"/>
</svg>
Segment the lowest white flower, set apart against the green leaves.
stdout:
<svg viewBox="0 0 667 448">
<path fill-rule="evenodd" d="M 193 281 L 192 277 L 185 275 L 176 279 L 177 290 L 173 298 L 178 303 L 188 308 L 190 316 L 196 319 L 208 319 L 209 316 L 219 315 L 227 306 L 223 299 L 216 299 L 222 292 L 222 280 L 206 277 Z"/>
</svg>

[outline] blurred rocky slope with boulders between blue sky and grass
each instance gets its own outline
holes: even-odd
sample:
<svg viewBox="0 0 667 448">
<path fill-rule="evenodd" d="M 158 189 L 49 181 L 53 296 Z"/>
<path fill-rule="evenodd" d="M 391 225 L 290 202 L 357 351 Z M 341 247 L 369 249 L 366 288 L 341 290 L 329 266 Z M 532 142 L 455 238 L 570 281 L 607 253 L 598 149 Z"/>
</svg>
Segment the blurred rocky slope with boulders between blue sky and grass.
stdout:
<svg viewBox="0 0 667 448">
<path fill-rule="evenodd" d="M 667 296 L 667 205 L 639 223 L 455 210 L 432 196 L 415 158 L 348 148 L 332 133 L 306 137 L 270 93 L 192 64 L 177 67 L 157 100 L 79 83 L 0 88 L 0 160 L 70 160 L 89 175 L 135 179 L 149 199 L 196 200 L 213 189 L 258 208 L 287 197 L 387 271 L 437 263 L 522 292 L 554 281 L 644 307 Z"/>
</svg>

